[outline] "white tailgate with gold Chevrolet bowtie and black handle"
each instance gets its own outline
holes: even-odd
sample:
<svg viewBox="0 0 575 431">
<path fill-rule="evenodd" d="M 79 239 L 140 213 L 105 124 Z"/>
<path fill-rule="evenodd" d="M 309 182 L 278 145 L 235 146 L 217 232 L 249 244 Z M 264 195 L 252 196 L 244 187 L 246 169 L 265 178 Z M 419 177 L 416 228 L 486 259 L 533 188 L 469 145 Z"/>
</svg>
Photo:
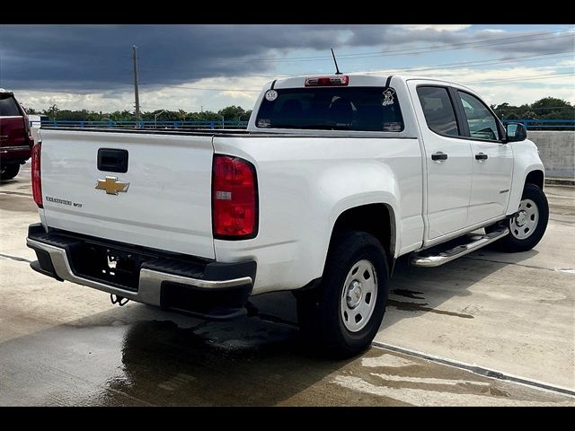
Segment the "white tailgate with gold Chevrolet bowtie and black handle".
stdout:
<svg viewBox="0 0 575 431">
<path fill-rule="evenodd" d="M 49 227 L 213 259 L 211 136 L 42 129 Z M 128 151 L 128 171 L 98 169 L 98 150 Z M 96 189 L 99 180 L 126 192 Z M 112 191 L 113 192 L 113 191 Z"/>
</svg>

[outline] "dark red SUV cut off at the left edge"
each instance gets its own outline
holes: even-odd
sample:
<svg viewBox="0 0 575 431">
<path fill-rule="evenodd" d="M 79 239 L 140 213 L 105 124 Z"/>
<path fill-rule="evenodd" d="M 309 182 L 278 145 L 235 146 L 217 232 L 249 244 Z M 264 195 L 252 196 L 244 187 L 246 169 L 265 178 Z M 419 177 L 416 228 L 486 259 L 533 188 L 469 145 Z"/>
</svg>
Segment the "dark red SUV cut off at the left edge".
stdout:
<svg viewBox="0 0 575 431">
<path fill-rule="evenodd" d="M 32 145 L 28 115 L 13 92 L 0 88 L 0 180 L 18 175 L 20 165 L 30 159 Z"/>
</svg>

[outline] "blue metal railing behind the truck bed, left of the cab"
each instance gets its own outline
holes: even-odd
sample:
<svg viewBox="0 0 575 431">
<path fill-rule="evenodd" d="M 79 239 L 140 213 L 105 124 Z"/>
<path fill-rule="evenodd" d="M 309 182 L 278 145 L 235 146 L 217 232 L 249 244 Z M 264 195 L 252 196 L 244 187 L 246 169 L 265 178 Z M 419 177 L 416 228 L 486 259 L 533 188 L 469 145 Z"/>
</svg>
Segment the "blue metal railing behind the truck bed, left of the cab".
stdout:
<svg viewBox="0 0 575 431">
<path fill-rule="evenodd" d="M 42 127 L 50 128 L 247 128 L 247 121 L 72 121 L 54 119 L 41 121 Z"/>
</svg>

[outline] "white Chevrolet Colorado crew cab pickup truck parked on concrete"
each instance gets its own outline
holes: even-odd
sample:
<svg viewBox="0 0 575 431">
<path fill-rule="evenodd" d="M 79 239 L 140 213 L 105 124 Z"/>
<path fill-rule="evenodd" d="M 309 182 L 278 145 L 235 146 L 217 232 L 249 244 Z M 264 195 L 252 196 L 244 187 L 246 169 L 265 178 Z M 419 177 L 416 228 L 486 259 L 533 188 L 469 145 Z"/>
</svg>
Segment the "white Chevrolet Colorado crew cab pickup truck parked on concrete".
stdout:
<svg viewBox="0 0 575 431">
<path fill-rule="evenodd" d="M 526 129 L 434 79 L 276 80 L 246 131 L 41 138 L 33 269 L 211 318 L 291 290 L 305 339 L 334 356 L 375 337 L 400 256 L 434 267 L 496 241 L 526 251 L 549 214 Z"/>
</svg>

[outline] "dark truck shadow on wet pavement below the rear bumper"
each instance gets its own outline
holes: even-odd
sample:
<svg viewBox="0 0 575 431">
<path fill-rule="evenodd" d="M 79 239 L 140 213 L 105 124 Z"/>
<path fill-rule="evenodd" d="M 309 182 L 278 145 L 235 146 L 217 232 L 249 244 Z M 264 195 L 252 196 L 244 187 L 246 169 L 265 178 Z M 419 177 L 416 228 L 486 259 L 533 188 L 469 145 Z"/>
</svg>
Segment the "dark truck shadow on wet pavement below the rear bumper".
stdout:
<svg viewBox="0 0 575 431">
<path fill-rule="evenodd" d="M 296 394 L 301 404 L 306 390 L 350 362 L 309 356 L 296 329 L 258 318 L 189 329 L 138 322 L 121 360 L 125 378 L 111 380 L 110 404 L 117 391 L 161 405 L 269 406 Z"/>
</svg>

